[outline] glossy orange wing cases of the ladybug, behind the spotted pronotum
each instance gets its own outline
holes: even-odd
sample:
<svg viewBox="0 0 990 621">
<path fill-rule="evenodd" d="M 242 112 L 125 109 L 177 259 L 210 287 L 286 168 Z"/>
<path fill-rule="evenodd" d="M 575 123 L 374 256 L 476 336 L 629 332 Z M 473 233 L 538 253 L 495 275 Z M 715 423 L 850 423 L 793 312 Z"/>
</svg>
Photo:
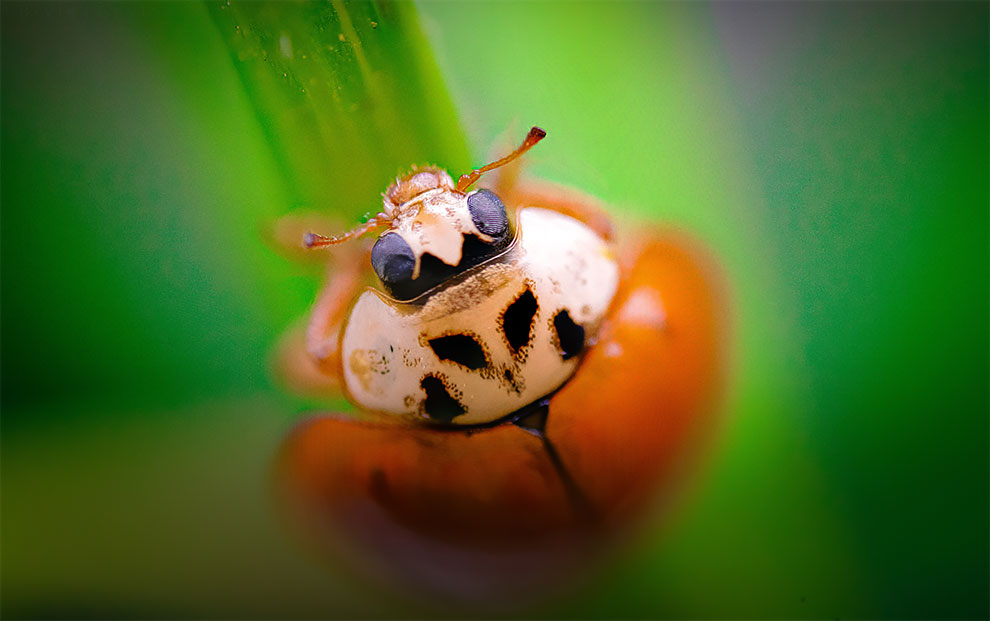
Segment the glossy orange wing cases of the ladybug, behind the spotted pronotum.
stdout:
<svg viewBox="0 0 990 621">
<path fill-rule="evenodd" d="M 289 515 L 365 572 L 446 594 L 536 588 L 579 568 L 673 487 L 723 379 L 724 306 L 706 256 L 665 234 L 636 245 L 623 274 L 597 344 L 549 405 L 545 437 L 571 489 L 544 440 L 512 424 L 321 416 L 283 446 Z"/>
</svg>

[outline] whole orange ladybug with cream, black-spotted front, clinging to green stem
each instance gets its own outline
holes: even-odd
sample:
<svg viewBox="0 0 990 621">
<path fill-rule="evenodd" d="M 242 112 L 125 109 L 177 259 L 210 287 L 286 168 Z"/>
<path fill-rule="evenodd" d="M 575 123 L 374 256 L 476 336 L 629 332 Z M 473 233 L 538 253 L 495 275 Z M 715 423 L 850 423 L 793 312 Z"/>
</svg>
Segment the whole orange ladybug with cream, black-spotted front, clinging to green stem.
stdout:
<svg viewBox="0 0 990 621">
<path fill-rule="evenodd" d="M 713 262 L 670 232 L 617 244 L 590 199 L 517 183 L 506 165 L 545 136 L 456 184 L 413 169 L 364 225 L 304 236 L 380 232 L 370 253 L 341 248 L 282 348 L 290 384 L 360 414 L 292 430 L 281 501 L 318 549 L 410 592 L 521 601 L 566 583 L 677 488 L 713 422 Z"/>
</svg>

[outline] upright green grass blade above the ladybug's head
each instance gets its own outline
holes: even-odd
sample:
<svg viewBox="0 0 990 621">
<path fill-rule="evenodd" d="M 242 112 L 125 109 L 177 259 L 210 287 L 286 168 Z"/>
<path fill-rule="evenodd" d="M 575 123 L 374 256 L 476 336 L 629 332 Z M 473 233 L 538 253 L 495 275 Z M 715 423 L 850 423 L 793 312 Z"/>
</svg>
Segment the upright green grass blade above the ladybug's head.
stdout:
<svg viewBox="0 0 990 621">
<path fill-rule="evenodd" d="M 411 164 L 466 169 L 463 136 L 411 5 L 209 8 L 294 204 L 353 217 Z"/>
</svg>

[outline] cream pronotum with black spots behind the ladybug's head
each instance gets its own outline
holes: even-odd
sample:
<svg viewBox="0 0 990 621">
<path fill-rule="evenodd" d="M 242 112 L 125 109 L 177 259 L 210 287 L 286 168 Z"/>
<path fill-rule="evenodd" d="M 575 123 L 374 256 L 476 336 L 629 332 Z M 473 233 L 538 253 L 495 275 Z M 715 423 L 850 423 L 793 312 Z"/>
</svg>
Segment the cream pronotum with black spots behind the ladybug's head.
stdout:
<svg viewBox="0 0 990 621">
<path fill-rule="evenodd" d="M 424 195 L 424 213 L 456 213 L 442 190 Z M 424 220 L 411 218 L 409 232 L 415 222 Z M 433 254 L 435 240 L 424 242 Z M 588 227 L 522 209 L 507 250 L 414 303 L 374 289 L 358 298 L 341 332 L 347 393 L 363 409 L 438 424 L 498 420 L 574 373 L 618 278 L 610 247 Z"/>
</svg>

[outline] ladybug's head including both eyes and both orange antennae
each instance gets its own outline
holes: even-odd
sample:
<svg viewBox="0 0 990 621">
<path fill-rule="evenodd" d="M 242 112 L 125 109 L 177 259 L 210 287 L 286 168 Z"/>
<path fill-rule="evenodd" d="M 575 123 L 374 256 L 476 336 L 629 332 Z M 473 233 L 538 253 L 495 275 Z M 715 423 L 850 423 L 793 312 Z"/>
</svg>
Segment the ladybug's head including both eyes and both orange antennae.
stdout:
<svg viewBox="0 0 990 621">
<path fill-rule="evenodd" d="M 388 227 L 371 250 L 371 265 L 389 295 L 412 300 L 466 269 L 491 259 L 513 239 L 505 205 L 489 190 L 468 192 L 481 175 L 508 164 L 543 139 L 538 127 L 502 159 L 462 175 L 455 186 L 446 171 L 413 169 L 383 195 L 384 209 L 339 237 L 307 233 L 309 248 L 325 247 Z"/>
</svg>

